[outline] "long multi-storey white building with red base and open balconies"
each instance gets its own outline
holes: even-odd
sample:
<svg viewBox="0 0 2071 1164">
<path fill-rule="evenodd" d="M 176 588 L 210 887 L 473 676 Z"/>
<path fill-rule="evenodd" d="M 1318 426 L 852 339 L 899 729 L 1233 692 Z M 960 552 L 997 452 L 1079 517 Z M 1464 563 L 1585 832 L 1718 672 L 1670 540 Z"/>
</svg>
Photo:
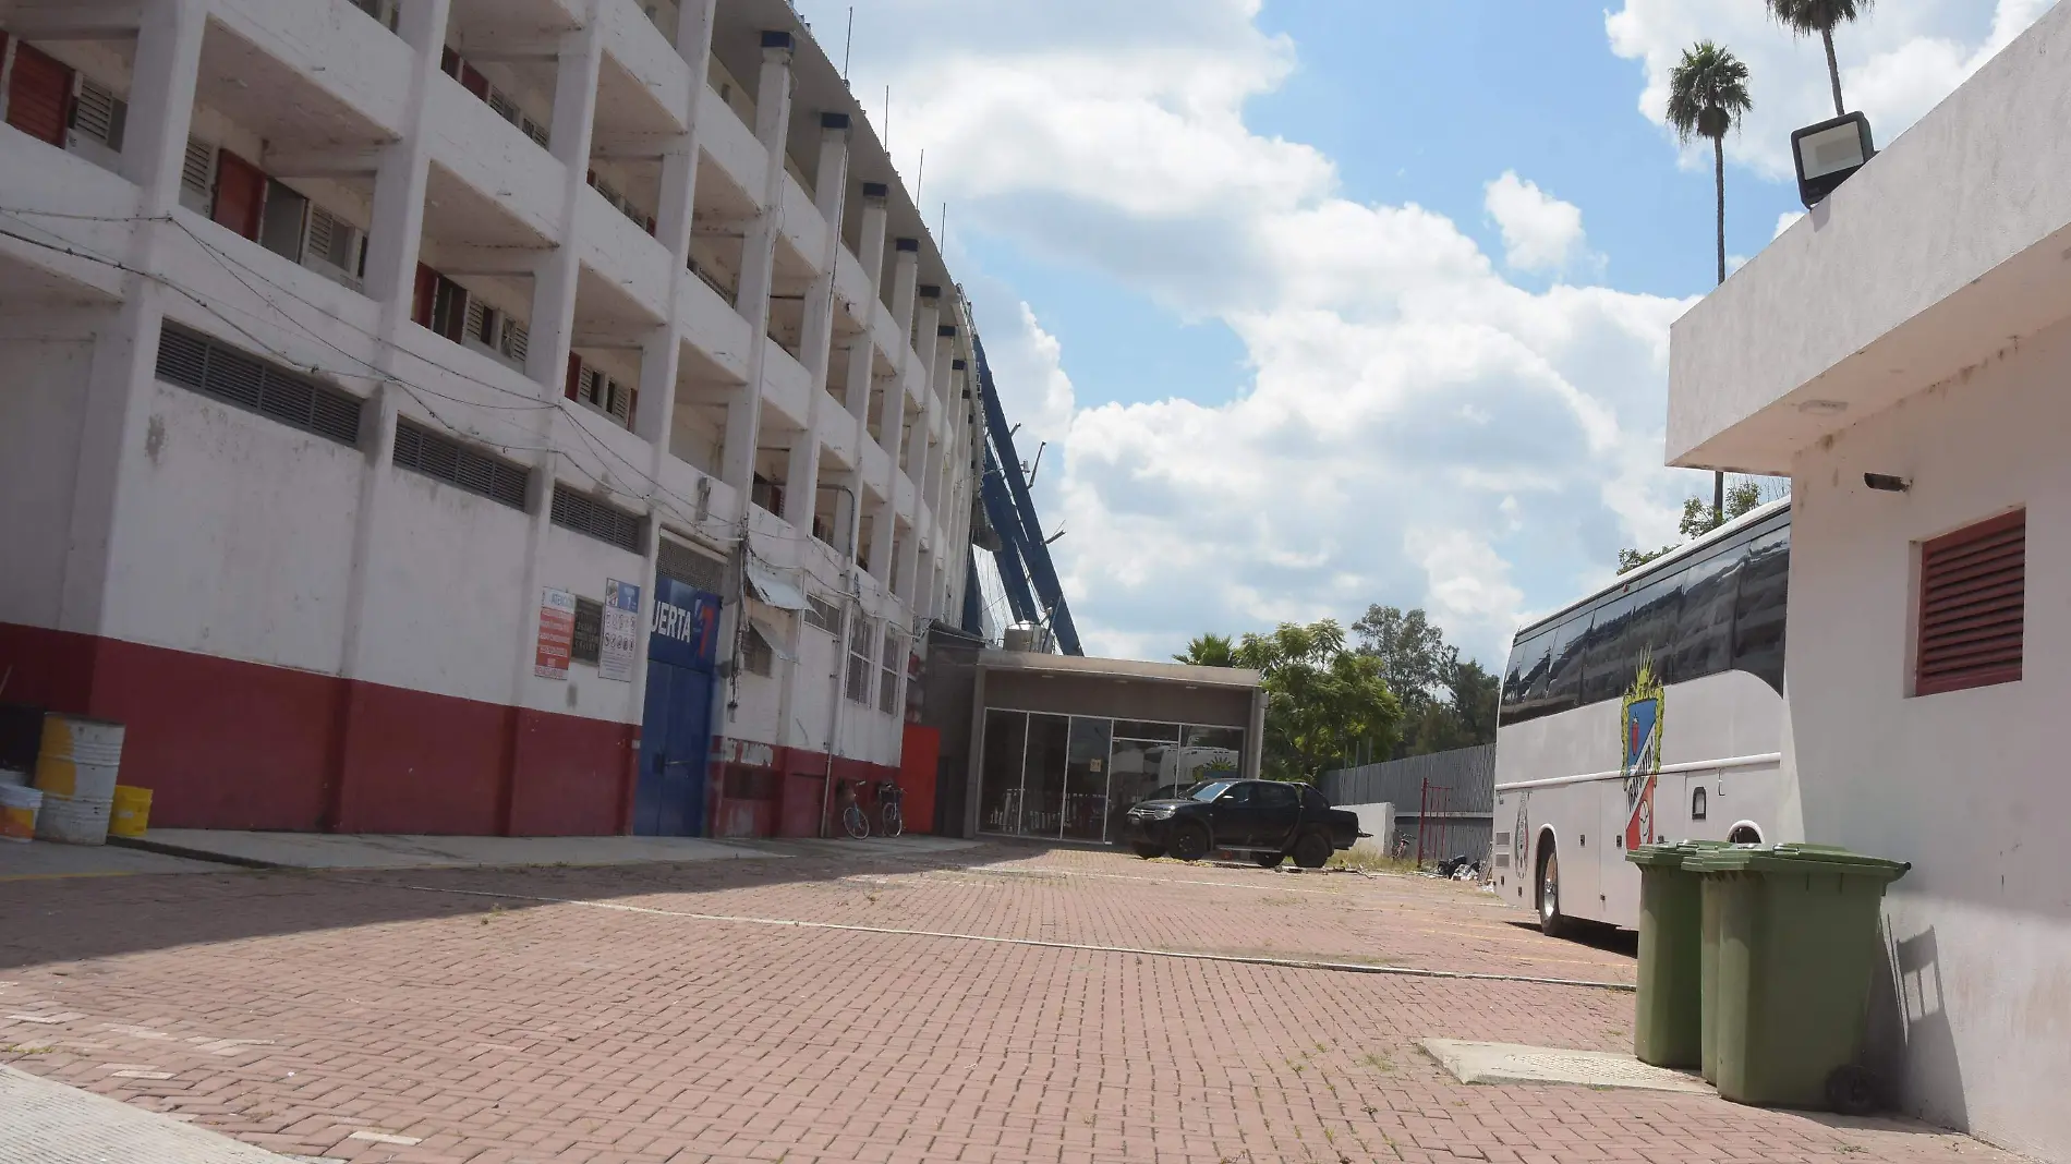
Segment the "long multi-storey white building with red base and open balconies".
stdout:
<svg viewBox="0 0 2071 1164">
<path fill-rule="evenodd" d="M 0 673 L 153 822 L 814 833 L 969 304 L 783 0 L 0 0 Z"/>
</svg>

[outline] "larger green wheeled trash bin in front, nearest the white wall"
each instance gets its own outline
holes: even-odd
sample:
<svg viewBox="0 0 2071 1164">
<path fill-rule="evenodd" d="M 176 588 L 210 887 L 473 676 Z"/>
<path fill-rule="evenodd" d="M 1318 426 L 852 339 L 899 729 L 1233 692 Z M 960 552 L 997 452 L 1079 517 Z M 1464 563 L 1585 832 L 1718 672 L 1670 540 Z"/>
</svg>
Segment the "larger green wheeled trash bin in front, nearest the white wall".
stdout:
<svg viewBox="0 0 2071 1164">
<path fill-rule="evenodd" d="M 1866 1112 L 1878 903 L 1912 866 L 1827 845 L 1731 845 L 1702 876 L 1704 1077 L 1738 1104 Z M 1704 973 L 1709 969 L 1709 973 Z"/>
</svg>

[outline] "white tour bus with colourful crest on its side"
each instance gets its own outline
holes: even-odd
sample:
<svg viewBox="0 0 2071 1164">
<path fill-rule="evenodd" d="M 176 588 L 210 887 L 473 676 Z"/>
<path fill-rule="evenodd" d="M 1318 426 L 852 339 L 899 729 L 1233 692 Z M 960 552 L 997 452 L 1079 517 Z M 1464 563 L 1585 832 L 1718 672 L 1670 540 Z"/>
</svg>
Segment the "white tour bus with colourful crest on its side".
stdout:
<svg viewBox="0 0 2071 1164">
<path fill-rule="evenodd" d="M 1541 619 L 1510 648 L 1495 731 L 1495 891 L 1636 928 L 1632 845 L 1800 841 L 1783 760 L 1789 499 Z"/>
</svg>

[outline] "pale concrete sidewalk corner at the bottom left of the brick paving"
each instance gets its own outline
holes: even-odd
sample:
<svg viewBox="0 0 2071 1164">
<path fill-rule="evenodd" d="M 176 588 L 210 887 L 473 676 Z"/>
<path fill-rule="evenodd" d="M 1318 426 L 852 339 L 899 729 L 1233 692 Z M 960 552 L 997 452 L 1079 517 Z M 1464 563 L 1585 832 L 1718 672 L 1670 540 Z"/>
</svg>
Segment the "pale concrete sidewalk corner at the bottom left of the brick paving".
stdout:
<svg viewBox="0 0 2071 1164">
<path fill-rule="evenodd" d="M 0 1067 L 0 1160 L 10 1164 L 290 1164 L 172 1116 Z"/>
</svg>

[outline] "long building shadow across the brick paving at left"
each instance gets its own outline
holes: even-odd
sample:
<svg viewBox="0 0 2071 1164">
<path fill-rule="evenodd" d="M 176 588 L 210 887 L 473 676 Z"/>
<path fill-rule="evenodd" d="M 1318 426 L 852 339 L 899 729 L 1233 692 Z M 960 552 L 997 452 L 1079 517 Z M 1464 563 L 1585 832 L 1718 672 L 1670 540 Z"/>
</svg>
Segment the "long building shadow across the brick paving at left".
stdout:
<svg viewBox="0 0 2071 1164">
<path fill-rule="evenodd" d="M 764 884 L 833 882 L 855 874 L 963 870 L 1025 860 L 1029 847 L 853 851 L 812 843 L 760 860 L 634 866 L 518 866 L 445 870 L 234 870 L 33 880 L 0 886 L 0 971 L 135 955 L 186 944 L 389 922 L 512 911 L 543 901 L 425 893 L 611 901 L 650 893 L 719 893 Z M 412 889 L 422 886 L 422 889 Z"/>
</svg>

